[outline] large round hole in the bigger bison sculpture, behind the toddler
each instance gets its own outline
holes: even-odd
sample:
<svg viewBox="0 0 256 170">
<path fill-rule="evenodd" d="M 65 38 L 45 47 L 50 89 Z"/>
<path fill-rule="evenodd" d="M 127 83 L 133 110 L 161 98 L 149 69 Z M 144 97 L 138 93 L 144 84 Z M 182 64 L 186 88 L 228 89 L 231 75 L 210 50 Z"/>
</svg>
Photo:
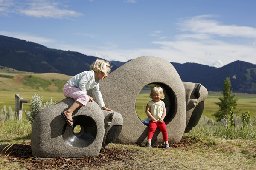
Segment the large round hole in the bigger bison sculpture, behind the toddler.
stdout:
<svg viewBox="0 0 256 170">
<path fill-rule="evenodd" d="M 150 100 L 152 100 L 149 97 L 149 95 L 150 95 L 151 88 L 154 88 L 155 86 L 162 87 L 163 92 L 165 94 L 165 98 L 161 99 L 165 103 L 165 106 L 166 106 L 166 116 L 164 118 L 164 122 L 166 124 L 171 122 L 177 112 L 177 99 L 176 99 L 174 92 L 172 91 L 172 89 L 169 86 L 167 86 L 163 83 L 148 84 L 140 91 L 139 95 L 137 96 L 137 100 L 136 100 L 137 116 L 140 119 L 140 121 L 147 126 L 149 124 L 149 121 L 148 121 L 148 116 L 146 114 L 146 106 L 147 106 L 147 103 Z"/>
</svg>

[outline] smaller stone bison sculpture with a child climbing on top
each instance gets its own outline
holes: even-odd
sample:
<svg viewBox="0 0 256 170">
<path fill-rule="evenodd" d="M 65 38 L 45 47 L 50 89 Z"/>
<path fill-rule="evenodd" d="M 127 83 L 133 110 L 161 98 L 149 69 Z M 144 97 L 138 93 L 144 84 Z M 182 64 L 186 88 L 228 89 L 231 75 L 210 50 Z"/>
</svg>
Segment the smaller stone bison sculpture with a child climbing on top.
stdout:
<svg viewBox="0 0 256 170">
<path fill-rule="evenodd" d="M 96 102 L 88 102 L 73 113 L 73 127 L 61 116 L 74 100 L 66 98 L 36 116 L 32 134 L 31 149 L 33 156 L 39 157 L 84 157 L 97 156 L 101 147 L 114 142 L 123 124 L 117 112 L 102 111 Z M 80 127 L 78 133 L 74 132 Z"/>
</svg>

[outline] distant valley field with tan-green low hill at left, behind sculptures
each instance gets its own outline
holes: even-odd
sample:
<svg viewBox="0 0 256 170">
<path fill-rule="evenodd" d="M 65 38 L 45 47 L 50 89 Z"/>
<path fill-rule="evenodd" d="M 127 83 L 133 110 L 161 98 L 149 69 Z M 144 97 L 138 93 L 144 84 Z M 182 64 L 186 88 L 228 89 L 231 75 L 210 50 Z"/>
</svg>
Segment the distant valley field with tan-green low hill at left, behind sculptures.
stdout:
<svg viewBox="0 0 256 170">
<path fill-rule="evenodd" d="M 0 67 L 0 108 L 4 105 L 14 110 L 15 94 L 19 94 L 23 99 L 31 100 L 35 93 L 43 96 L 46 102 L 52 97 L 53 101 L 59 102 L 64 99 L 62 88 L 71 76 L 57 73 L 29 73 L 21 72 L 5 67 Z M 145 107 L 149 100 L 150 88 L 143 88 L 136 101 L 136 111 L 140 119 L 147 119 Z M 212 116 L 217 110 L 218 98 L 222 96 L 220 92 L 209 92 L 207 99 L 204 101 L 203 116 L 215 119 Z M 236 94 L 238 98 L 237 109 L 240 109 L 239 115 L 249 110 L 256 116 L 256 94 Z M 23 103 L 23 109 L 28 110 L 29 105 Z"/>
</svg>

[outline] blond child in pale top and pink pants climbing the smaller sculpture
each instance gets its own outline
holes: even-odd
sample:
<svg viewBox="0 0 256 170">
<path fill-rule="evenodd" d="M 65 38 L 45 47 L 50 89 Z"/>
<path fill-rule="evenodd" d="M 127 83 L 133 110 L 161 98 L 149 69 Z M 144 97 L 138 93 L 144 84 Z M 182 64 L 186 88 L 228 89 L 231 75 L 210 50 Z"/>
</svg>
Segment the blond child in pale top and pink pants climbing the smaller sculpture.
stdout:
<svg viewBox="0 0 256 170">
<path fill-rule="evenodd" d="M 93 98 L 87 94 L 87 90 L 89 89 L 93 89 L 98 104 L 102 109 L 112 111 L 105 107 L 102 95 L 99 91 L 99 80 L 103 80 L 108 76 L 110 68 L 109 62 L 97 59 L 90 66 L 90 71 L 79 73 L 67 81 L 63 88 L 63 94 L 65 97 L 76 100 L 67 111 L 61 113 L 67 125 L 73 127 L 73 111 L 79 108 L 79 106 L 85 106 L 88 101 L 93 102 Z"/>
</svg>

